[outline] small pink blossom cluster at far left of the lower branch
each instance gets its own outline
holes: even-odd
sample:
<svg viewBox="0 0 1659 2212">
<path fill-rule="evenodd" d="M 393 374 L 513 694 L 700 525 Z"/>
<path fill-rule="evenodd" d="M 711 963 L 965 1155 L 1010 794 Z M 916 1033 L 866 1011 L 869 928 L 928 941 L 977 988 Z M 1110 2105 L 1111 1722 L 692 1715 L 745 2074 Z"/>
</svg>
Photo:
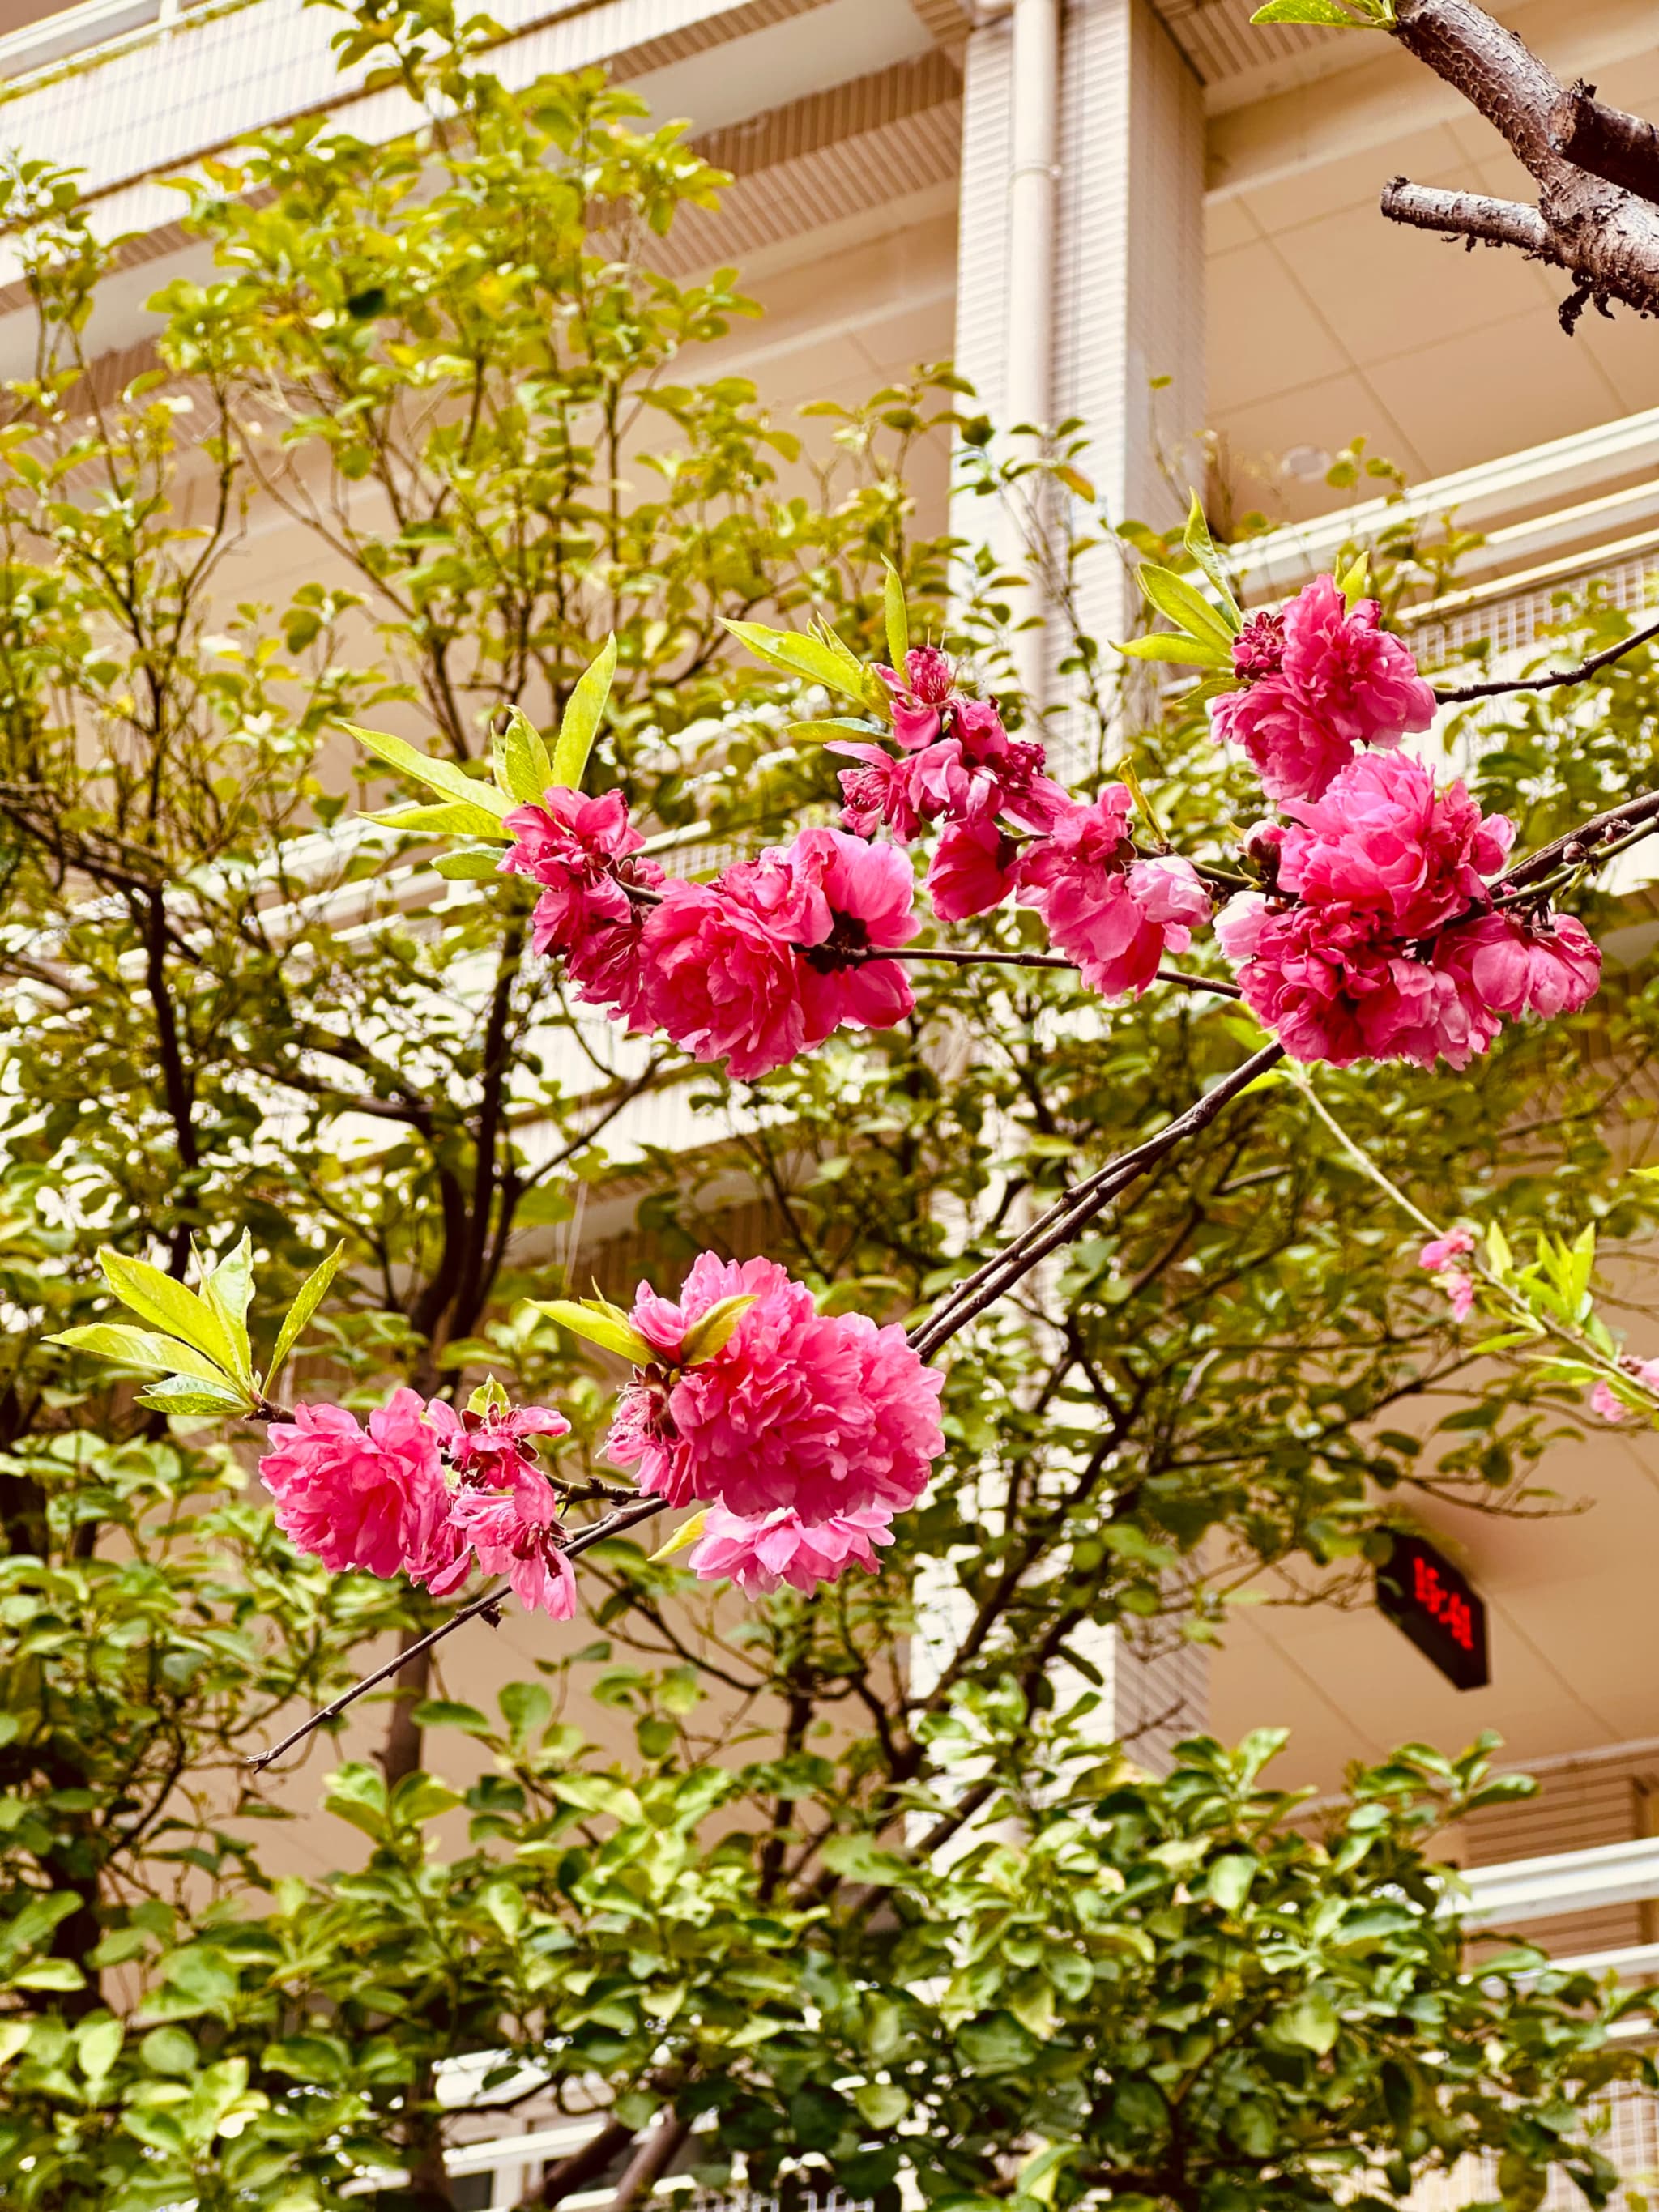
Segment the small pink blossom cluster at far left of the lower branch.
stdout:
<svg viewBox="0 0 1659 2212">
<path fill-rule="evenodd" d="M 568 1621 L 575 1575 L 557 1495 L 529 1444 L 568 1427 L 540 1405 L 458 1413 L 396 1389 L 367 1429 L 338 1405 L 296 1407 L 272 1425 L 259 1473 L 276 1526 L 336 1573 L 409 1575 L 447 1597 L 478 1564 L 507 1575 L 524 1606 Z"/>
</svg>

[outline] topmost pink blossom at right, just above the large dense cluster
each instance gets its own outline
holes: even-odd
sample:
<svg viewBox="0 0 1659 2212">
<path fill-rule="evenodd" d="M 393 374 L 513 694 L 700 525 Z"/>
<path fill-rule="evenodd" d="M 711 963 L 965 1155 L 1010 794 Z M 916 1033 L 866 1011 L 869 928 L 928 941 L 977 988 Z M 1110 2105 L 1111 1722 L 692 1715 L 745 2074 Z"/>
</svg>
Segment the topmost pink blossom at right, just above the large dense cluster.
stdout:
<svg viewBox="0 0 1659 2212">
<path fill-rule="evenodd" d="M 1243 745 L 1274 803 L 1321 799 L 1360 745 L 1398 745 L 1433 721 L 1433 690 L 1376 599 L 1356 606 L 1318 575 L 1232 641 L 1243 688 L 1210 706 L 1221 743 Z"/>
</svg>

